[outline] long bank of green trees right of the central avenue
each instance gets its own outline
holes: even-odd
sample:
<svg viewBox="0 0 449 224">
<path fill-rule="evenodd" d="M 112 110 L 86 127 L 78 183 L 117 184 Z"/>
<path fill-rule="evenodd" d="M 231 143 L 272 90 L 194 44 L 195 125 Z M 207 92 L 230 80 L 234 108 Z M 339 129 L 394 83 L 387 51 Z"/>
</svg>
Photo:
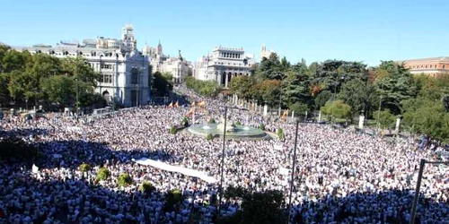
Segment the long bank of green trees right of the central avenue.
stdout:
<svg viewBox="0 0 449 224">
<path fill-rule="evenodd" d="M 368 68 L 359 62 L 328 60 L 291 65 L 276 54 L 263 58 L 253 76 L 234 77 L 231 93 L 269 107 L 289 108 L 296 115 L 319 111 L 352 119 L 364 114 L 384 128 L 396 116 L 410 131 L 449 140 L 449 77 L 412 75 L 404 65 L 383 61 Z"/>
</svg>

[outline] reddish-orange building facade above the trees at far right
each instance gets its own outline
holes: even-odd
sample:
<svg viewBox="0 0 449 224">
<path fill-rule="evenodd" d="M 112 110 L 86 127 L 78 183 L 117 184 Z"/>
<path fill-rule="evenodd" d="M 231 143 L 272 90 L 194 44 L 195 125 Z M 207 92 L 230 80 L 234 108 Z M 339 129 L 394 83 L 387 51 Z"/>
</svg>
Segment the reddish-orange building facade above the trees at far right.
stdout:
<svg viewBox="0 0 449 224">
<path fill-rule="evenodd" d="M 449 57 L 430 57 L 422 59 L 410 59 L 401 61 L 404 67 L 409 69 L 410 73 L 420 74 L 424 73 L 430 76 L 437 76 L 444 73 L 449 73 Z"/>
</svg>

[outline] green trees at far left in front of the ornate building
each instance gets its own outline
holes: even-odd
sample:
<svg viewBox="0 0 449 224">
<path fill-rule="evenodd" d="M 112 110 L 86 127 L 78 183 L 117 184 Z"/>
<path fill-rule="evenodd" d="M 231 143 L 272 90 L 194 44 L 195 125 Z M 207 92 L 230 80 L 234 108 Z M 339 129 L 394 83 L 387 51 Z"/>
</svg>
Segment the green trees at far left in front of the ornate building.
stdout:
<svg viewBox="0 0 449 224">
<path fill-rule="evenodd" d="M 59 59 L 46 54 L 31 55 L 0 45 L 0 103 L 79 106 L 104 104 L 94 89 L 101 79 L 82 57 Z"/>
</svg>

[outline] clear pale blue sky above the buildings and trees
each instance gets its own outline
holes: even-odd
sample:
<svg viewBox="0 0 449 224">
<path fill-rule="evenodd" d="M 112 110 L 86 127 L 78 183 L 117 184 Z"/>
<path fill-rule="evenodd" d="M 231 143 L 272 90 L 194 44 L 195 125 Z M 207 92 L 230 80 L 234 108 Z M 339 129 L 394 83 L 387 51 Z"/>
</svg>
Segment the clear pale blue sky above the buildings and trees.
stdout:
<svg viewBox="0 0 449 224">
<path fill-rule="evenodd" d="M 307 64 L 449 56 L 447 0 L 103 1 L 5 0 L 0 42 L 55 45 L 59 40 L 120 38 L 134 24 L 137 45 L 195 61 L 214 47 L 260 47 Z"/>
</svg>

